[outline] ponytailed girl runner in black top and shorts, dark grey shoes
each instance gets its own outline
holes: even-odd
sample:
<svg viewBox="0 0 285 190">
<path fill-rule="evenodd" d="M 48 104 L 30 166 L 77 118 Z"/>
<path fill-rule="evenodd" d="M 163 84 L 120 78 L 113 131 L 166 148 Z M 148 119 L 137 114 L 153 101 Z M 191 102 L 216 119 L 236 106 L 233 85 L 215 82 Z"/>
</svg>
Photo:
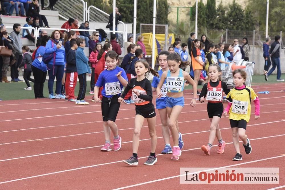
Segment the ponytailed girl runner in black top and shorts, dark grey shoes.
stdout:
<svg viewBox="0 0 285 190">
<path fill-rule="evenodd" d="M 155 133 L 155 122 L 156 122 L 156 113 L 154 110 L 154 105 L 152 104 L 152 88 L 151 83 L 146 79 L 145 75 L 152 73 L 152 75 L 159 76 L 157 71 L 149 67 L 145 59 L 140 59 L 135 63 L 135 71 L 137 78 L 130 80 L 126 86 L 123 94 L 118 98 L 118 102 L 122 103 L 124 97 L 126 96 L 129 90 L 133 89 L 133 101 L 136 105 L 136 116 L 135 116 L 135 130 L 133 135 L 133 156 L 128 160 L 125 160 L 124 163 L 129 165 L 138 165 L 138 149 L 140 142 L 140 133 L 143 126 L 144 119 L 147 119 L 148 130 L 150 134 L 151 141 L 151 150 L 150 156 L 144 165 L 153 165 L 157 162 L 155 156 L 155 148 L 157 143 L 157 137 Z"/>
</svg>

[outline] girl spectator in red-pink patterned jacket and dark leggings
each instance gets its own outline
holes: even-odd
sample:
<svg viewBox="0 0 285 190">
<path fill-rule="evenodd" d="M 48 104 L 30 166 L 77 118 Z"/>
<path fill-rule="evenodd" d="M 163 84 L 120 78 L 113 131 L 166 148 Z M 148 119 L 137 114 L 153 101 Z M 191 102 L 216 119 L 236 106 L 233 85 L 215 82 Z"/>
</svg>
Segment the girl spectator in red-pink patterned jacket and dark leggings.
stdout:
<svg viewBox="0 0 285 190">
<path fill-rule="evenodd" d="M 89 46 L 90 48 L 90 46 Z M 96 68 L 96 65 L 98 63 L 98 54 L 99 54 L 99 51 L 101 50 L 102 48 L 102 45 L 98 42 L 94 48 L 94 50 L 91 52 L 91 54 L 89 55 L 89 62 L 91 63 L 91 79 L 90 79 L 90 91 L 89 91 L 89 94 L 94 94 L 93 92 L 93 89 L 94 89 L 94 86 L 95 86 L 95 68 Z"/>
</svg>

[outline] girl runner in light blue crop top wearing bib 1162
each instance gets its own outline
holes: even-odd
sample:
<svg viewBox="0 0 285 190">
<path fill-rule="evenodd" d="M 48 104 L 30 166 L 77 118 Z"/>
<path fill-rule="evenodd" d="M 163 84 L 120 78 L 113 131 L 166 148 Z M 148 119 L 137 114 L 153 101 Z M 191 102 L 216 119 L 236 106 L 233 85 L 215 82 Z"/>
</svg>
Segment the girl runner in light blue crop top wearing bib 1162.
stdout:
<svg viewBox="0 0 285 190">
<path fill-rule="evenodd" d="M 156 88 L 157 97 L 161 98 L 161 88 L 163 86 L 164 80 L 166 80 L 166 110 L 169 117 L 168 127 L 170 128 L 172 139 L 173 139 L 173 149 L 172 149 L 172 160 L 179 160 L 181 156 L 181 148 L 178 146 L 178 129 L 176 128 L 176 120 L 178 115 L 184 107 L 184 79 L 188 80 L 190 84 L 193 85 L 193 98 L 190 105 L 192 107 L 196 106 L 197 97 L 197 85 L 194 80 L 190 77 L 188 73 L 183 71 L 180 67 L 184 68 L 189 65 L 189 62 L 183 62 L 180 55 L 177 53 L 171 53 L 167 56 L 168 71 L 164 71 L 161 75 L 160 82 Z"/>
</svg>

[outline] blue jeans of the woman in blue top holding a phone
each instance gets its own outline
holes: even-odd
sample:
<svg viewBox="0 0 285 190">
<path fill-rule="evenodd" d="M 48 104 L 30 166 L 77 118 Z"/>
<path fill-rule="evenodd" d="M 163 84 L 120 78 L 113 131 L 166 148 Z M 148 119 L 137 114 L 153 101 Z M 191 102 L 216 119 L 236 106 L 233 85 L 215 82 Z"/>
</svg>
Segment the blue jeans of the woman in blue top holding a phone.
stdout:
<svg viewBox="0 0 285 190">
<path fill-rule="evenodd" d="M 62 85 L 61 80 L 64 73 L 64 65 L 54 65 L 54 69 L 52 69 L 52 64 L 47 64 L 46 66 L 48 67 L 48 92 L 50 94 L 53 94 L 53 84 L 54 79 L 56 78 L 55 93 L 60 94 Z"/>
</svg>

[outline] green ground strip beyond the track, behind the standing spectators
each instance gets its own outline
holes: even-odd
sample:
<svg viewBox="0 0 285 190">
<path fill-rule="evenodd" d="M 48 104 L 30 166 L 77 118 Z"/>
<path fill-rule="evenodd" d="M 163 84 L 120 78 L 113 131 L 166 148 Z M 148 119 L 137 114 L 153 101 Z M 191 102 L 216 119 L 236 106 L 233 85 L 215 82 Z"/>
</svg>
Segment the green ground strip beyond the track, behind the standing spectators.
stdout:
<svg viewBox="0 0 285 190">
<path fill-rule="evenodd" d="M 285 79 L 285 74 L 281 76 L 282 79 Z M 264 75 L 253 75 L 252 85 L 260 83 L 276 83 L 276 75 L 270 75 L 268 77 L 268 82 L 264 80 Z M 33 88 L 33 83 L 31 83 Z M 90 81 L 87 81 L 86 95 L 89 92 Z M 26 88 L 25 82 L 12 82 L 12 83 L 1 83 L 0 82 L 0 98 L 3 100 L 21 100 L 21 99 L 33 99 L 34 91 L 24 90 Z M 198 89 L 201 89 L 202 86 L 198 86 Z M 192 86 L 185 86 L 185 89 L 192 89 Z M 54 83 L 55 90 L 55 83 Z M 79 90 L 79 83 L 76 85 L 75 96 L 77 97 Z M 264 90 L 265 91 L 265 90 Z M 44 96 L 48 97 L 48 82 L 44 83 Z"/>
</svg>

